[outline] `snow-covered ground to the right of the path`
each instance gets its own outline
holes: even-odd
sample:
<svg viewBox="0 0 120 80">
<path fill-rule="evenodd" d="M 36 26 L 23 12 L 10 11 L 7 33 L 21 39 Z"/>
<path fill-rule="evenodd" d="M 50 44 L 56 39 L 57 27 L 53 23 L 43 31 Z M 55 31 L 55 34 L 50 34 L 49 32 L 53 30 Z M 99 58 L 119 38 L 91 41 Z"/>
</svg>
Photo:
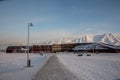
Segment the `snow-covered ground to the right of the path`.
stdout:
<svg viewBox="0 0 120 80">
<path fill-rule="evenodd" d="M 120 54 L 59 54 L 58 57 L 79 80 L 120 80 Z"/>
</svg>

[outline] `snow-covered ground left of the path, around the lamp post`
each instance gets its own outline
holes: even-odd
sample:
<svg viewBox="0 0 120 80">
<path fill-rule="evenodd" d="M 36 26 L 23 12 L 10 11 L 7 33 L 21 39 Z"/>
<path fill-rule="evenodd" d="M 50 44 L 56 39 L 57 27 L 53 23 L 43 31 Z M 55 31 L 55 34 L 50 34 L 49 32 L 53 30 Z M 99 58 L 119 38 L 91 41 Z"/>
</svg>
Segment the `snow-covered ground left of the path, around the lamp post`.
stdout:
<svg viewBox="0 0 120 80">
<path fill-rule="evenodd" d="M 32 80 L 49 57 L 30 54 L 32 67 L 26 67 L 26 54 L 0 53 L 0 80 Z"/>
</svg>

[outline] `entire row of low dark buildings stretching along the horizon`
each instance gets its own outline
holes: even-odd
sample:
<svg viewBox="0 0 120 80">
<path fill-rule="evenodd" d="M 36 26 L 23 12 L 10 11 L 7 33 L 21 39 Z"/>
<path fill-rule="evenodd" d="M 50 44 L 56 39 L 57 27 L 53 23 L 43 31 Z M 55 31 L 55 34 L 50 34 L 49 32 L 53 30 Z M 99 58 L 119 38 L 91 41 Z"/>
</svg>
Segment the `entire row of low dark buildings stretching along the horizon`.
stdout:
<svg viewBox="0 0 120 80">
<path fill-rule="evenodd" d="M 25 53 L 26 46 L 8 46 L 6 53 Z M 120 53 L 120 46 L 109 45 L 105 43 L 70 43 L 53 45 L 33 45 L 30 47 L 30 53 L 56 53 L 56 52 L 92 52 L 92 53 Z"/>
</svg>

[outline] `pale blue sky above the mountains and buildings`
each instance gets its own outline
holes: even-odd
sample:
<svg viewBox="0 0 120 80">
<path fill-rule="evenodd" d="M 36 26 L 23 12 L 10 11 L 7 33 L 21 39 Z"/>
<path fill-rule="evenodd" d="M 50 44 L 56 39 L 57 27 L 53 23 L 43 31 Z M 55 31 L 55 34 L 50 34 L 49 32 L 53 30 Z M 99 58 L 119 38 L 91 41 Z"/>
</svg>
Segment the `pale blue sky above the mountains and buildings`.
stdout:
<svg viewBox="0 0 120 80">
<path fill-rule="evenodd" d="M 120 0 L 0 0 L 0 44 L 120 32 Z"/>
</svg>

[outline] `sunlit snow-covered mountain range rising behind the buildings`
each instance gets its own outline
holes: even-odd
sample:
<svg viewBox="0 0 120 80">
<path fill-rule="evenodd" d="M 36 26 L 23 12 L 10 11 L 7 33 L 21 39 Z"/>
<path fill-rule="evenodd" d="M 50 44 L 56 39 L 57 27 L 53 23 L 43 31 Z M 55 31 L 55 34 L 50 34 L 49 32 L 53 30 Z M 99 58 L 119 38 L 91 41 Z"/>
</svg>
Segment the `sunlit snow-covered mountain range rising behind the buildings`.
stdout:
<svg viewBox="0 0 120 80">
<path fill-rule="evenodd" d="M 94 42 L 120 46 L 120 34 L 107 33 L 103 35 L 84 35 L 52 40 L 45 42 L 45 44 L 94 43 Z"/>
</svg>

